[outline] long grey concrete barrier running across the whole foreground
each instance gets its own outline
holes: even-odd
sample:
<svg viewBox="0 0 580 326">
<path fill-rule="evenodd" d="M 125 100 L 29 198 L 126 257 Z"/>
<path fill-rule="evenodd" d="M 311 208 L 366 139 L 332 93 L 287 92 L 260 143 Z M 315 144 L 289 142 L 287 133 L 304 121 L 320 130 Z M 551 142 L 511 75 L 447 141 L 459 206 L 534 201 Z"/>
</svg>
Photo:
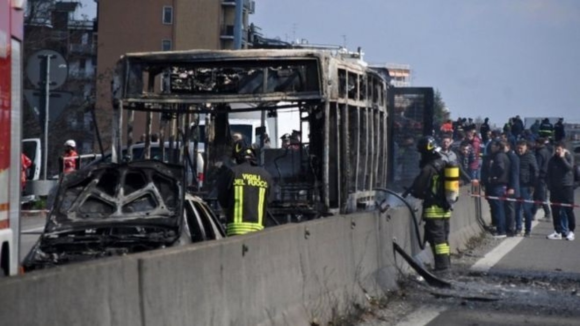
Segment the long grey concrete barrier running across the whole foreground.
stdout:
<svg viewBox="0 0 580 326">
<path fill-rule="evenodd" d="M 475 207 L 467 196 L 456 205 L 452 250 L 481 233 Z M 55 326 L 324 323 L 397 287 L 398 270 L 408 267 L 393 255 L 393 239 L 419 253 L 406 207 L 34 272 L 0 280 L 0 320 Z"/>
</svg>

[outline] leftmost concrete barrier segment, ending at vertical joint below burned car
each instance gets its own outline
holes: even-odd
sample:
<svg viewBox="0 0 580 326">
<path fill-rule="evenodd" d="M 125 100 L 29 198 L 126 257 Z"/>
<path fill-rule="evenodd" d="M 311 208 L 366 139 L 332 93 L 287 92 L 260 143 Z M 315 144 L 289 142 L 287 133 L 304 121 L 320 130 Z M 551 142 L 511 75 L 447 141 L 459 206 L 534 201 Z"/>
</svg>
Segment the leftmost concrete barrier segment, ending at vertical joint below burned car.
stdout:
<svg viewBox="0 0 580 326">
<path fill-rule="evenodd" d="M 1 325 L 142 325 L 138 259 L 103 259 L 0 281 Z"/>
</svg>

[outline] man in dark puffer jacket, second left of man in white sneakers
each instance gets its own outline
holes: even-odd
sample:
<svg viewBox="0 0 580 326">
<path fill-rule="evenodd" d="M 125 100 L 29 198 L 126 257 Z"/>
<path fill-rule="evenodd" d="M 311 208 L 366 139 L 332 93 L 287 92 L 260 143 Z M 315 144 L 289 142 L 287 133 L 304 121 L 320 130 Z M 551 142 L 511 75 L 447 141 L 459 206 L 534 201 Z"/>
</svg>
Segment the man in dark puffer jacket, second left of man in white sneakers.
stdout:
<svg viewBox="0 0 580 326">
<path fill-rule="evenodd" d="M 534 193 L 534 186 L 536 184 L 536 179 L 538 178 L 538 163 L 534 154 L 528 150 L 528 143 L 526 140 L 521 139 L 517 142 L 517 155 L 520 158 L 520 199 L 524 202 L 516 202 L 516 235 L 521 234 L 521 220 L 522 213 L 525 220 L 525 237 L 530 236 L 530 231 L 532 228 L 532 220 L 534 220 L 534 215 L 532 215 L 532 204 L 530 201 L 532 199 L 532 194 Z"/>
</svg>

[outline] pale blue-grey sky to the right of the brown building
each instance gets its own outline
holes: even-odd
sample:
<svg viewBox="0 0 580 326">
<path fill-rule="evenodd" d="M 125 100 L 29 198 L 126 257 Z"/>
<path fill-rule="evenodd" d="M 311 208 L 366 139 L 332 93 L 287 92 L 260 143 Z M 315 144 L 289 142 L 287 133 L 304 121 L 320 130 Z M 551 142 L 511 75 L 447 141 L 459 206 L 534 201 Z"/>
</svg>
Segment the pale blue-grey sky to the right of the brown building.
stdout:
<svg viewBox="0 0 580 326">
<path fill-rule="evenodd" d="M 256 0 L 249 20 L 282 41 L 361 46 L 409 64 L 451 117 L 564 117 L 580 123 L 578 0 Z"/>
</svg>

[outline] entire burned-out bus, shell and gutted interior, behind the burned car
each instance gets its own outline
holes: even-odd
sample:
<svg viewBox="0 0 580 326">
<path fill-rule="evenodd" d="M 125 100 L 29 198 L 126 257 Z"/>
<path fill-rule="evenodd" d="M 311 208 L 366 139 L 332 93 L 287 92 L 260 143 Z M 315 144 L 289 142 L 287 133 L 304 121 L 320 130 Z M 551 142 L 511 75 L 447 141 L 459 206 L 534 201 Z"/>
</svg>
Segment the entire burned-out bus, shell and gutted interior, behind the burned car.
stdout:
<svg viewBox="0 0 580 326">
<path fill-rule="evenodd" d="M 369 209 L 374 189 L 386 186 L 387 82 L 367 67 L 360 52 L 128 53 L 118 62 L 112 91 L 113 160 L 135 142 L 135 114 L 144 114 L 146 158 L 151 135 L 180 147 L 172 153 L 185 165 L 195 164 L 187 152 L 204 144 L 205 181 L 192 189 L 208 200 L 215 197 L 220 166 L 231 164 L 229 119 L 250 114 L 261 121 L 250 131 L 260 136 L 253 144 L 260 165 L 275 181 L 276 200 L 269 208 L 274 220 Z M 278 117 L 282 110 L 299 117 L 292 135 L 284 135 L 292 137 L 292 146 L 272 146 L 264 128 L 287 123 Z"/>
</svg>

